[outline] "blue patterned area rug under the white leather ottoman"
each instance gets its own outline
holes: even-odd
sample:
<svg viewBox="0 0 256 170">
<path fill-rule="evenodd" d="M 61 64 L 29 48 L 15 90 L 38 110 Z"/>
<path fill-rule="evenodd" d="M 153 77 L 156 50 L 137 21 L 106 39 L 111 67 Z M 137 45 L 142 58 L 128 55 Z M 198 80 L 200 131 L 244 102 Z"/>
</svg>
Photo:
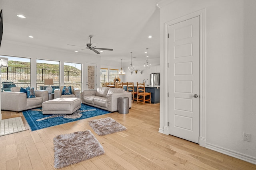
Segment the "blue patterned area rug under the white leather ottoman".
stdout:
<svg viewBox="0 0 256 170">
<path fill-rule="evenodd" d="M 86 119 L 89 117 L 104 115 L 110 112 L 93 107 L 93 106 L 88 106 L 86 104 L 81 104 L 81 108 L 70 115 L 68 114 L 43 115 L 42 107 L 23 111 L 22 113 L 26 118 L 31 131 L 35 131 L 35 130 L 43 129 L 50 126 L 77 121 L 80 119 Z"/>
</svg>

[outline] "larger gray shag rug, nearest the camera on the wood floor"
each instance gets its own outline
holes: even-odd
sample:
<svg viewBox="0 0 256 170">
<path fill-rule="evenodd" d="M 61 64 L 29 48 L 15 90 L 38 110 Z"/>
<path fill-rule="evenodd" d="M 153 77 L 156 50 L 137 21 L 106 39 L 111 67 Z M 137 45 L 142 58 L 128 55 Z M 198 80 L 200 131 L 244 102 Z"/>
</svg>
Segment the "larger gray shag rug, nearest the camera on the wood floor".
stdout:
<svg viewBox="0 0 256 170">
<path fill-rule="evenodd" d="M 54 167 L 63 168 L 105 153 L 91 131 L 58 135 L 53 139 Z"/>
</svg>

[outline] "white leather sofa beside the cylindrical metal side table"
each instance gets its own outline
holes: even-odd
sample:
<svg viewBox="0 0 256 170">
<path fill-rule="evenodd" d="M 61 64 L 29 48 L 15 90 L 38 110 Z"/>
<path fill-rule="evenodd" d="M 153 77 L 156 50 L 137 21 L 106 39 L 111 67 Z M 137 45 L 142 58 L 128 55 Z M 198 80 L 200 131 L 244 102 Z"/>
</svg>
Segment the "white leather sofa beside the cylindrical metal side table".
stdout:
<svg viewBox="0 0 256 170">
<path fill-rule="evenodd" d="M 118 98 L 129 98 L 129 108 L 132 107 L 132 93 L 123 88 L 98 87 L 97 90 L 82 90 L 83 104 L 98 107 L 111 112 L 118 110 Z"/>
</svg>

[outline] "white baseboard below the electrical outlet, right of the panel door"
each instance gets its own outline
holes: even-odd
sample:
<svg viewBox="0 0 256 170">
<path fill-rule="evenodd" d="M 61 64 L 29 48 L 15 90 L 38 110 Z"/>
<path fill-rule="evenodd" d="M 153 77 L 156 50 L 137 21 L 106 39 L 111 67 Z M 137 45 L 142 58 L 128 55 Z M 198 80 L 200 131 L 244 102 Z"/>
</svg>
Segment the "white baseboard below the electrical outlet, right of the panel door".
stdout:
<svg viewBox="0 0 256 170">
<path fill-rule="evenodd" d="M 211 149 L 211 150 L 215 150 L 217 152 L 220 152 L 220 153 L 223 153 L 223 154 L 226 154 L 226 155 L 229 155 L 229 156 L 232 156 L 234 158 L 238 158 L 240 160 L 244 160 L 246 162 L 250 162 L 252 164 L 256 164 L 256 158 L 255 157 L 248 156 L 246 154 L 242 154 L 242 153 L 236 152 L 234 150 L 229 150 L 229 149 L 226 149 L 226 148 L 222 148 L 222 147 L 210 144 L 210 143 L 206 143 L 206 148 Z"/>
</svg>

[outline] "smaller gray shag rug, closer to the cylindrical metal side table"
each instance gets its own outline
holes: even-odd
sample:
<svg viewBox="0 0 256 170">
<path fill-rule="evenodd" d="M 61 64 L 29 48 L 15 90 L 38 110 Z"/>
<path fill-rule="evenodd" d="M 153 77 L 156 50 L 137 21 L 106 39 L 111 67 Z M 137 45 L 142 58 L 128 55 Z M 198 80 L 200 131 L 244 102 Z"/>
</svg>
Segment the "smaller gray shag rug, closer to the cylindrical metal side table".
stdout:
<svg viewBox="0 0 256 170">
<path fill-rule="evenodd" d="M 88 121 L 88 123 L 90 127 L 92 127 L 94 132 L 97 133 L 99 136 L 126 130 L 126 127 L 124 127 L 111 117 L 90 120 Z"/>
</svg>

